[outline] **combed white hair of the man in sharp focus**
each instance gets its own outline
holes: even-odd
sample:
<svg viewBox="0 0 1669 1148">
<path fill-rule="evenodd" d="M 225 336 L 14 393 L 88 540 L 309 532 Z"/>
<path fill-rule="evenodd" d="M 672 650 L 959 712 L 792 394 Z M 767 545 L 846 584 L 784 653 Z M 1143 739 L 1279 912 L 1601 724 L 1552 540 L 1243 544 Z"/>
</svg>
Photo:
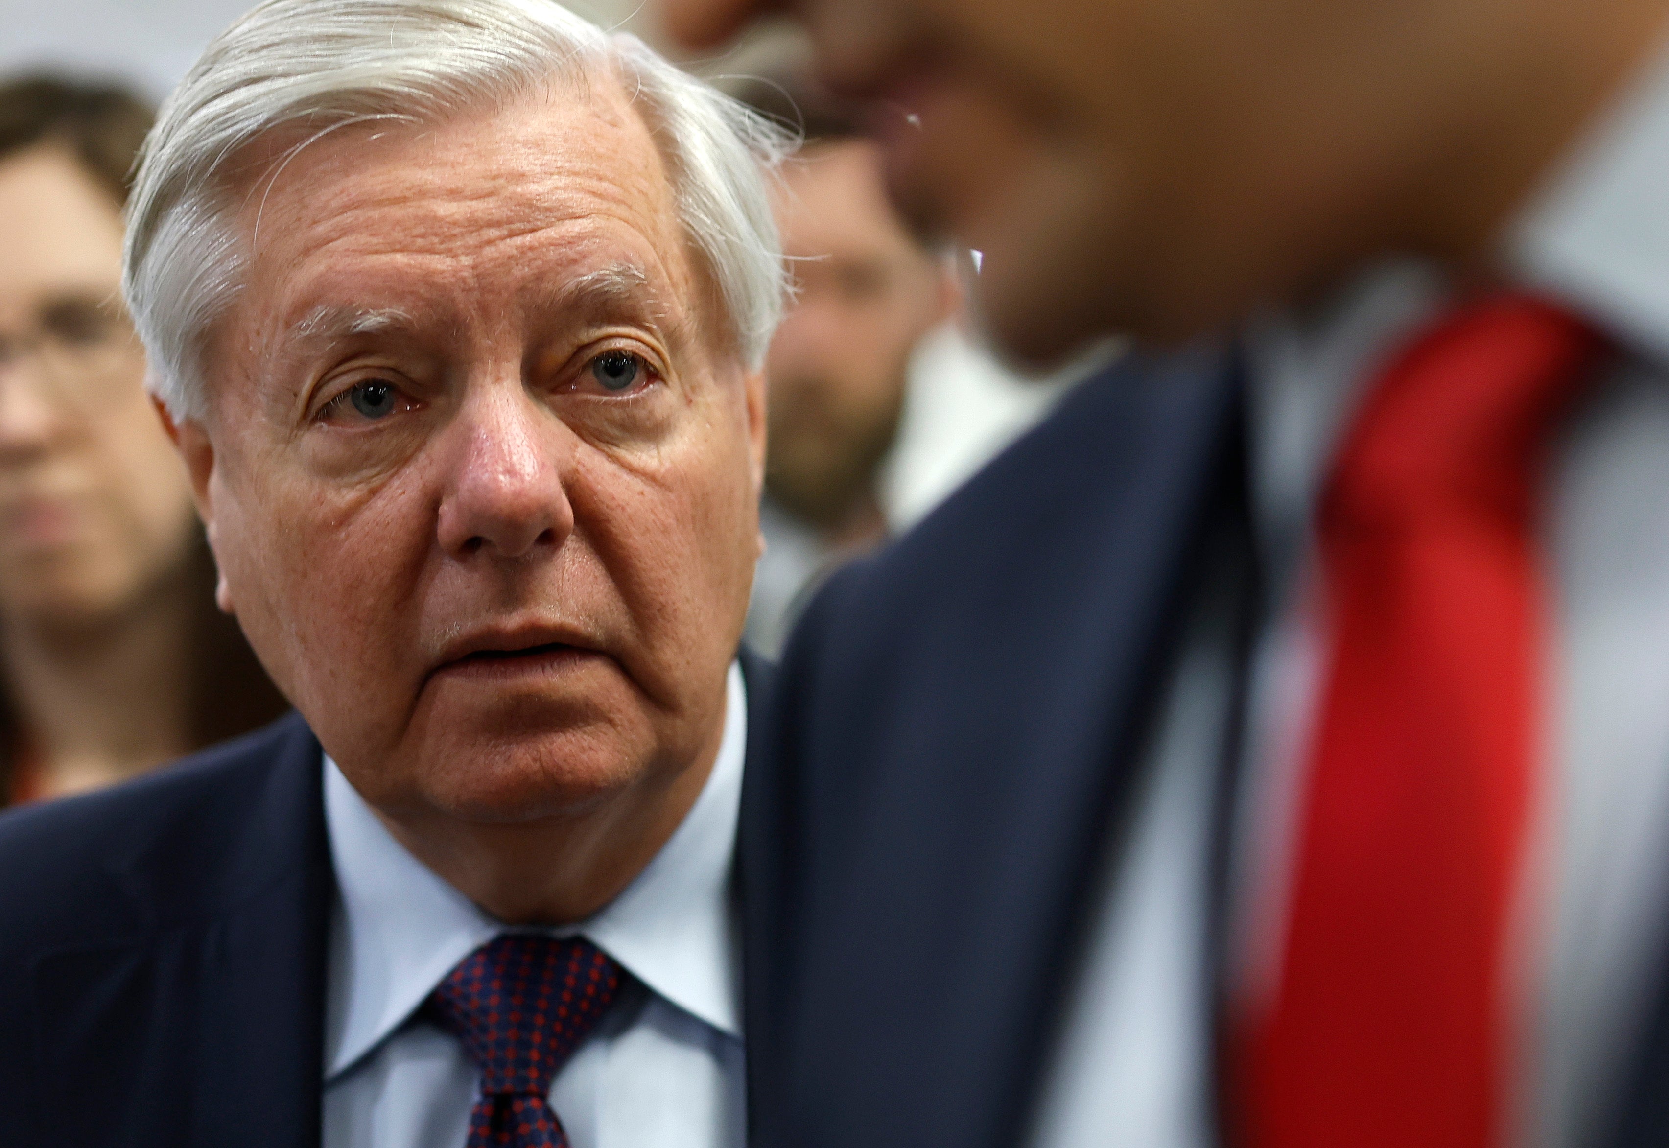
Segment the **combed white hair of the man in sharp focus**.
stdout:
<svg viewBox="0 0 1669 1148">
<path fill-rule="evenodd" d="M 249 262 L 225 165 L 254 140 L 275 128 L 310 142 L 371 120 L 432 123 L 599 75 L 633 93 L 663 149 L 728 334 L 758 367 L 784 297 L 764 179 L 789 150 L 776 125 L 552 0 L 265 0 L 162 105 L 129 199 L 122 285 L 152 357 L 152 392 L 175 417 L 204 414 L 204 339 Z"/>
</svg>

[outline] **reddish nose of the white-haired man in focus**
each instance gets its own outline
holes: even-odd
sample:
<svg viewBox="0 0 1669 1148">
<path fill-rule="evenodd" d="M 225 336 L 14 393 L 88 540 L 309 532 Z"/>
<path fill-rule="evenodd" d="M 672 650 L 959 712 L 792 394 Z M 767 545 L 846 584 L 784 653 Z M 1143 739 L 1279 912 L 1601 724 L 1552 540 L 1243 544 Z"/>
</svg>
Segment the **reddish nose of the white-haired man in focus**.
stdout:
<svg viewBox="0 0 1669 1148">
<path fill-rule="evenodd" d="M 471 395 L 452 425 L 439 541 L 449 554 L 516 559 L 574 531 L 564 471 L 577 439 L 521 385 Z"/>
</svg>

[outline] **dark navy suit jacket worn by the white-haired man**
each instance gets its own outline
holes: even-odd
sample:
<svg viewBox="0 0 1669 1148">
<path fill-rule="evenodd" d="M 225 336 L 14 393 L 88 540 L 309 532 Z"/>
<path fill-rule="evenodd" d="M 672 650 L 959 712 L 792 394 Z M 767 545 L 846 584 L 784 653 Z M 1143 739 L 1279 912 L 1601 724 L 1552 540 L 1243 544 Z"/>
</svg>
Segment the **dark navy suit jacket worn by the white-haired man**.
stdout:
<svg viewBox="0 0 1669 1148">
<path fill-rule="evenodd" d="M 743 669 L 746 791 L 769 667 L 744 652 Z M 319 1143 L 335 894 L 320 754 L 290 714 L 0 818 L 0 1143 Z M 746 904 L 743 923 L 746 949 L 763 928 Z"/>
</svg>

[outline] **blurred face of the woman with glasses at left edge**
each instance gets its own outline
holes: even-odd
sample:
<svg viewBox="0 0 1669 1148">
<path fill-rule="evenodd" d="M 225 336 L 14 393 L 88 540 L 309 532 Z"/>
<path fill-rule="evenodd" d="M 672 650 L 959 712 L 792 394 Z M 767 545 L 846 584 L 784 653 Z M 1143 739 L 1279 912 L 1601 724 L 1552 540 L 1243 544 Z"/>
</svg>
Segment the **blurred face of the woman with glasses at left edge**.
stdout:
<svg viewBox="0 0 1669 1148">
<path fill-rule="evenodd" d="M 0 614 L 85 626 L 184 559 L 190 492 L 120 305 L 122 212 L 42 145 L 0 160 Z"/>
</svg>

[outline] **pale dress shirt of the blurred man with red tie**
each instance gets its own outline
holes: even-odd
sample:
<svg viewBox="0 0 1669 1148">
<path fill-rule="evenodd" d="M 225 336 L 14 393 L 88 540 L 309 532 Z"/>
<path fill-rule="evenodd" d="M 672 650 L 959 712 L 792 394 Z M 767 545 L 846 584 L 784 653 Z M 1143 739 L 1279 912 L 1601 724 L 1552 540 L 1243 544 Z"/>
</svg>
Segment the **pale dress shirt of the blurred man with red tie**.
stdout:
<svg viewBox="0 0 1669 1148">
<path fill-rule="evenodd" d="M 1525 1038 L 1512 1143 L 1599 1148 L 1661 971 L 1669 906 L 1669 57 L 1519 217 L 1509 282 L 1601 327 L 1619 359 L 1554 444 L 1540 541 L 1554 597 L 1547 794 L 1525 863 L 1514 979 Z M 1230 984 L 1280 969 L 1295 821 L 1325 651 L 1314 504 L 1365 384 L 1445 302 L 1387 264 L 1248 334 L 1253 532 L 1273 586 L 1253 654 L 1235 804 Z M 1068 999 L 1035 1148 L 1207 1148 L 1213 1111 L 1207 888 L 1232 706 L 1223 591 L 1195 604 L 1137 816 Z"/>
</svg>

